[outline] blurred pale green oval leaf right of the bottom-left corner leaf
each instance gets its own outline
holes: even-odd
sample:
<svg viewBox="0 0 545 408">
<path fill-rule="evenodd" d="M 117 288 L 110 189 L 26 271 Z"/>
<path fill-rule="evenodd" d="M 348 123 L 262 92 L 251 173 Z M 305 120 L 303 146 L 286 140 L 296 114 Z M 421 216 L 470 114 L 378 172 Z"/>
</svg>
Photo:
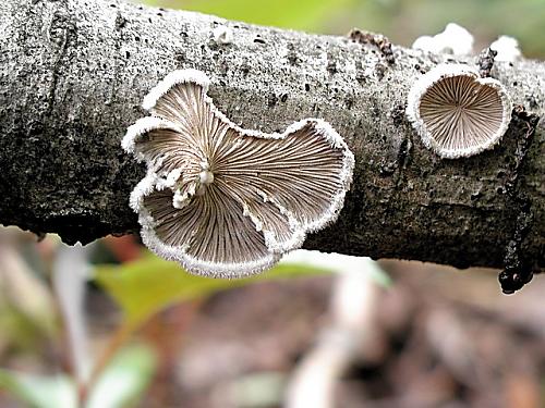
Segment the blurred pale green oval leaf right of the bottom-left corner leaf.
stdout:
<svg viewBox="0 0 545 408">
<path fill-rule="evenodd" d="M 125 347 L 112 358 L 93 387 L 86 408 L 126 407 L 147 388 L 156 369 L 156 356 L 149 347 Z"/>
</svg>

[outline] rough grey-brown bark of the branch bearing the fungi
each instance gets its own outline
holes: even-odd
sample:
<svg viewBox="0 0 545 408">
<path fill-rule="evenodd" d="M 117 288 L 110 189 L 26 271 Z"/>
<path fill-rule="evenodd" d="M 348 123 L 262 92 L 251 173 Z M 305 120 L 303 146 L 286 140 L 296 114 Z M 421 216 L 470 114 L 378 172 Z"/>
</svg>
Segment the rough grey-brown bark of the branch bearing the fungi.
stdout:
<svg viewBox="0 0 545 408">
<path fill-rule="evenodd" d="M 214 41 L 218 25 L 232 30 L 232 44 Z M 545 120 L 532 133 L 545 114 L 545 63 L 496 63 L 492 76 L 526 113 L 513 110 L 494 150 L 440 160 L 403 111 L 413 81 L 449 55 L 365 38 L 118 1 L 1 2 L 0 223 L 66 243 L 137 231 L 128 198 L 144 168 L 120 140 L 159 79 L 195 67 L 243 127 L 282 131 L 318 116 L 351 147 L 354 183 L 342 214 L 306 248 L 462 268 L 501 268 L 517 252 L 545 267 Z"/>
</svg>

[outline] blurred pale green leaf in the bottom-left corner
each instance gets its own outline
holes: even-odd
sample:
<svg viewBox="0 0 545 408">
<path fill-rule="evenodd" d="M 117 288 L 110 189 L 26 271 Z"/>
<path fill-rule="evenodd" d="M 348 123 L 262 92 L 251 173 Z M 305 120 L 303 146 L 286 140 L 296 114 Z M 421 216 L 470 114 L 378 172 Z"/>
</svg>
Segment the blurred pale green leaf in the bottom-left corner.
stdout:
<svg viewBox="0 0 545 408">
<path fill-rule="evenodd" d="M 76 388 L 66 375 L 34 375 L 0 369 L 0 390 L 35 408 L 75 408 Z"/>
</svg>

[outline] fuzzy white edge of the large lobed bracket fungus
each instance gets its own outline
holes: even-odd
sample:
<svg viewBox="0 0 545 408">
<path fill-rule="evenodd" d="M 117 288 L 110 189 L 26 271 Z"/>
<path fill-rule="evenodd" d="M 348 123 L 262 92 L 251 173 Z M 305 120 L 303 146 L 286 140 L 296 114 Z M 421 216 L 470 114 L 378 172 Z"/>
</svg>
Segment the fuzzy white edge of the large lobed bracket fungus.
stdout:
<svg viewBox="0 0 545 408">
<path fill-rule="evenodd" d="M 252 202 L 246 202 L 241 199 L 239 203 L 242 207 L 243 218 L 249 218 L 252 221 L 255 231 L 263 234 L 267 248 L 266 254 L 263 254 L 261 257 L 243 262 L 207 261 L 187 254 L 190 246 L 189 243 L 182 243 L 180 245 L 169 245 L 165 243 L 165 240 L 157 235 L 156 228 L 158 221 L 154 219 L 148 208 L 146 208 L 144 199 L 154 191 L 168 189 L 173 190 L 177 182 L 183 177 L 184 169 L 177 168 L 170 170 L 168 173 L 165 173 L 160 170 L 160 168 L 162 162 L 168 159 L 169 154 L 172 153 L 167 152 L 161 156 L 149 158 L 146 153 L 138 151 L 136 145 L 142 141 L 143 137 L 147 133 L 154 129 L 168 129 L 178 133 L 183 132 L 183 126 L 179 126 L 174 121 L 161 118 L 161 115 L 156 111 L 156 107 L 161 98 L 164 98 L 165 95 L 179 84 L 193 84 L 202 87 L 202 101 L 197 100 L 195 103 L 206 103 L 208 106 L 207 108 L 209 108 L 209 111 L 211 112 L 211 115 L 225 125 L 225 128 L 228 131 L 222 131 L 223 134 L 221 137 L 225 137 L 227 132 L 232 131 L 240 134 L 241 138 L 247 137 L 280 141 L 288 139 L 290 135 L 294 135 L 300 131 L 303 132 L 303 129 L 310 128 L 312 129 L 312 137 L 319 137 L 325 140 L 334 151 L 338 150 L 342 152 L 342 164 L 340 165 L 339 173 L 336 174 L 336 190 L 330 197 L 328 197 L 328 205 L 319 213 L 319 217 L 302 219 L 301 214 L 296 214 L 294 209 L 282 203 L 274 193 L 266 194 L 263 190 L 257 189 L 256 193 L 261 199 L 259 205 L 271 203 L 281 214 L 278 217 L 287 219 L 291 234 L 289 239 L 279 239 L 275 234 L 274 228 L 268 225 L 267 222 L 264 222 L 264 218 L 259 217 L 259 214 L 255 213 L 255 211 L 251 208 Z M 346 193 L 350 188 L 350 184 L 352 182 L 354 157 L 343 138 L 331 127 L 331 125 L 329 125 L 329 123 L 322 119 L 304 119 L 290 125 L 283 133 L 266 134 L 258 131 L 243 129 L 232 123 L 214 106 L 211 98 L 207 95 L 209 85 L 210 81 L 203 72 L 192 69 L 180 70 L 168 74 L 165 79 L 154 87 L 144 98 L 143 108 L 148 110 L 152 113 L 152 116 L 143 118 L 136 121 L 135 124 L 129 127 L 126 135 L 122 140 L 123 149 L 126 152 L 134 154 L 136 160 L 145 161 L 148 168 L 146 176 L 137 184 L 131 194 L 130 206 L 136 213 L 138 213 L 138 222 L 142 225 L 141 235 L 144 244 L 158 256 L 179 262 L 189 272 L 194 274 L 213 277 L 244 277 L 271 268 L 279 261 L 283 254 L 300 248 L 307 233 L 320 230 L 337 220 L 338 214 L 343 207 Z M 203 164 L 201 165 L 203 166 Z M 208 175 L 207 172 L 208 164 L 203 166 L 203 171 L 201 172 L 201 180 L 202 183 L 205 183 L 205 185 L 206 183 L 214 183 L 214 174 L 209 173 Z M 313 188 L 313 186 L 308 186 L 308 188 Z M 206 194 L 205 188 L 204 191 L 204 194 Z M 192 197 L 198 195 L 199 191 L 197 191 L 195 187 L 192 190 L 190 189 L 189 191 L 185 191 L 183 195 L 177 196 L 177 194 L 178 191 L 174 194 L 172 199 L 172 211 L 183 208 L 183 206 L 187 205 Z M 183 225 L 180 225 L 180 227 L 183 227 Z"/>
</svg>

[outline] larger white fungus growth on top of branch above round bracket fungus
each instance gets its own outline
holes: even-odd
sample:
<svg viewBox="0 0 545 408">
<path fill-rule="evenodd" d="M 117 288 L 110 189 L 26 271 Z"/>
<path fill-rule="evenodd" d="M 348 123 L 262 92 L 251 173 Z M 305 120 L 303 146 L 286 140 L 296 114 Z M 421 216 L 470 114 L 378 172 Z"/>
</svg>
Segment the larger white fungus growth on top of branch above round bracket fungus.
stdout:
<svg viewBox="0 0 545 408">
<path fill-rule="evenodd" d="M 412 48 L 433 53 L 470 55 L 473 52 L 473 36 L 462 26 L 449 23 L 443 33 L 416 38 Z"/>
</svg>

